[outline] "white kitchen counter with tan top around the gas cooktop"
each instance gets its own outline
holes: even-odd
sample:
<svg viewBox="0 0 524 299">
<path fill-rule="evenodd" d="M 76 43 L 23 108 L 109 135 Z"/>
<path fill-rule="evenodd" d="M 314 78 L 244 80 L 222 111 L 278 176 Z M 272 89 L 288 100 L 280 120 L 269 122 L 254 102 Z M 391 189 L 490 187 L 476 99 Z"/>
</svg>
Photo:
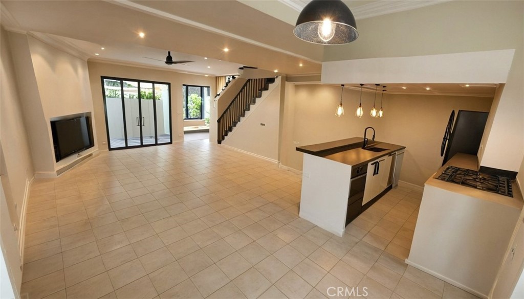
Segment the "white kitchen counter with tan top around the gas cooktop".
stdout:
<svg viewBox="0 0 524 299">
<path fill-rule="evenodd" d="M 438 180 L 448 165 L 478 170 L 477 156 L 457 153 L 424 184 L 406 263 L 487 298 L 524 202 L 513 182 L 505 196 Z"/>
</svg>

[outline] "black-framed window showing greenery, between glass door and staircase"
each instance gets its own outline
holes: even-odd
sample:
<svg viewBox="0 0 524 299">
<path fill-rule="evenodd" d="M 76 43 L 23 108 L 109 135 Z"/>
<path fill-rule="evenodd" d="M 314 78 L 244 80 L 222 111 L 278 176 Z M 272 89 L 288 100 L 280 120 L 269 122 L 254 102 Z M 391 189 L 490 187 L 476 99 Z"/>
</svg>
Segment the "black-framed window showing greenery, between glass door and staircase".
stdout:
<svg viewBox="0 0 524 299">
<path fill-rule="evenodd" d="M 184 119 L 209 117 L 209 86 L 182 85 Z"/>
</svg>

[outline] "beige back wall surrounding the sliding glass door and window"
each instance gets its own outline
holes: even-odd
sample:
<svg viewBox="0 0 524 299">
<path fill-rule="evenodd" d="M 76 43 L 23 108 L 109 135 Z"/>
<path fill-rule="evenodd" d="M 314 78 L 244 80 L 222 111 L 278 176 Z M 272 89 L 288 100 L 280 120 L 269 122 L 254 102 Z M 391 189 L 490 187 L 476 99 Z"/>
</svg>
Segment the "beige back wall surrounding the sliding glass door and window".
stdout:
<svg viewBox="0 0 524 299">
<path fill-rule="evenodd" d="M 121 77 L 126 79 L 140 79 L 171 83 L 171 126 L 173 141 L 184 140 L 183 137 L 183 113 L 182 113 L 182 85 L 193 84 L 210 86 L 210 94 L 215 94 L 214 77 L 190 75 L 170 71 L 152 70 L 146 68 L 129 67 L 126 65 L 88 62 L 89 80 L 91 83 L 91 94 L 93 96 L 93 108 L 95 113 L 95 124 L 98 131 L 96 139 L 101 150 L 107 149 L 107 133 L 105 125 L 104 99 L 102 97 L 101 76 Z M 213 108 L 212 108 L 213 109 Z M 213 113 L 211 116 L 213 117 Z M 216 119 L 214 119 L 216 123 Z M 211 120 L 213 124 L 213 120 Z M 215 125 L 216 128 L 216 125 Z"/>
</svg>

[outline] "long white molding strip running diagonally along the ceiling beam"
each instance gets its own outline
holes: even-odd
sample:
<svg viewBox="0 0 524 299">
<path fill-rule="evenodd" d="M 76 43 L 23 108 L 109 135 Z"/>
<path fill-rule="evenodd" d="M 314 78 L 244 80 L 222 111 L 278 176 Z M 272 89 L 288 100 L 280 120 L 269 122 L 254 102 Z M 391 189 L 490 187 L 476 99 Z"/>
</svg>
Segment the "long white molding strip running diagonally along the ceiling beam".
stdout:
<svg viewBox="0 0 524 299">
<path fill-rule="evenodd" d="M 239 40 L 239 41 L 243 41 L 243 42 L 246 42 L 246 43 L 250 43 L 251 45 L 255 45 L 255 46 L 258 46 L 258 47 L 261 47 L 261 48 L 265 48 L 265 49 L 268 49 L 268 50 L 272 50 L 272 51 L 280 52 L 280 53 L 283 53 L 283 54 L 287 54 L 289 56 L 300 58 L 300 59 L 303 59 L 303 60 L 306 60 L 306 61 L 319 63 L 319 64 L 322 63 L 320 61 L 313 60 L 313 59 L 311 59 L 309 57 L 305 57 L 305 56 L 302 56 L 302 55 L 297 54 L 297 53 L 293 53 L 293 52 L 290 52 L 290 51 L 287 51 L 287 50 L 283 50 L 283 49 L 280 49 L 280 48 L 277 48 L 277 47 L 273 47 L 273 46 L 267 45 L 265 43 L 262 43 L 262 42 L 259 42 L 259 41 L 253 40 L 253 39 L 245 38 L 243 36 L 232 34 L 231 32 L 220 30 L 220 29 L 217 29 L 217 28 L 214 28 L 214 27 L 202 24 L 202 23 L 198 23 L 198 22 L 190 20 L 190 19 L 186 19 L 186 18 L 182 18 L 180 16 L 176 16 L 176 15 L 173 15 L 173 14 L 162 12 L 161 10 L 158 10 L 158 9 L 155 9 L 155 8 L 151 8 L 151 7 L 148 7 L 148 6 L 145 6 L 145 5 L 141 5 L 141 4 L 138 4 L 138 3 L 134 3 L 134 2 L 131 2 L 129 0 L 103 0 L 103 1 L 106 1 L 106 2 L 111 3 L 111 4 L 127 7 L 127 8 L 130 8 L 130 9 L 134 9 L 134 10 L 137 10 L 139 12 L 143 12 L 143 13 L 146 13 L 146 14 L 149 14 L 149 15 L 152 15 L 152 16 L 161 17 L 161 18 L 164 18 L 164 19 L 167 19 L 167 20 L 170 20 L 170 21 L 174 21 L 174 22 L 177 22 L 177 23 L 180 23 L 180 24 L 184 24 L 184 25 L 187 25 L 187 26 L 191 26 L 191 27 L 194 27 L 194 28 L 199 28 L 199 29 L 202 29 L 202 30 L 205 30 L 205 31 L 208 31 L 208 32 L 212 32 L 214 34 L 218 34 L 218 35 L 222 35 L 222 36 L 225 36 L 225 37 L 233 38 L 233 39 L 236 39 L 236 40 Z"/>
</svg>

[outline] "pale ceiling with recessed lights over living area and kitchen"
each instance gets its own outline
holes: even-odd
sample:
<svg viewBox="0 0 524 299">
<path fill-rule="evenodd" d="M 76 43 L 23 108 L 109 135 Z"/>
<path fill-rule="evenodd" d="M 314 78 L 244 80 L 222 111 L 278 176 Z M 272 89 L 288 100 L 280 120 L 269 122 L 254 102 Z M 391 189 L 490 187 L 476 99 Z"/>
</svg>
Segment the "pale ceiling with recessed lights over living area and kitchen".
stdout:
<svg viewBox="0 0 524 299">
<path fill-rule="evenodd" d="M 94 61 L 211 76 L 237 73 L 242 65 L 287 75 L 319 74 L 326 46 L 303 42 L 292 34 L 301 9 L 309 1 L 2 0 L 0 23 L 7 30 L 28 32 Z M 357 20 L 445 1 L 449 0 L 344 0 Z M 145 32 L 145 38 L 137 36 L 139 31 Z M 225 47 L 230 51 L 224 52 Z M 174 60 L 195 62 L 166 65 L 163 60 L 168 50 Z M 399 92 L 432 93 L 415 86 Z M 447 93 L 464 91 L 456 86 L 440 88 Z M 494 88 L 477 89 L 467 91 L 484 96 L 494 92 Z"/>
</svg>

